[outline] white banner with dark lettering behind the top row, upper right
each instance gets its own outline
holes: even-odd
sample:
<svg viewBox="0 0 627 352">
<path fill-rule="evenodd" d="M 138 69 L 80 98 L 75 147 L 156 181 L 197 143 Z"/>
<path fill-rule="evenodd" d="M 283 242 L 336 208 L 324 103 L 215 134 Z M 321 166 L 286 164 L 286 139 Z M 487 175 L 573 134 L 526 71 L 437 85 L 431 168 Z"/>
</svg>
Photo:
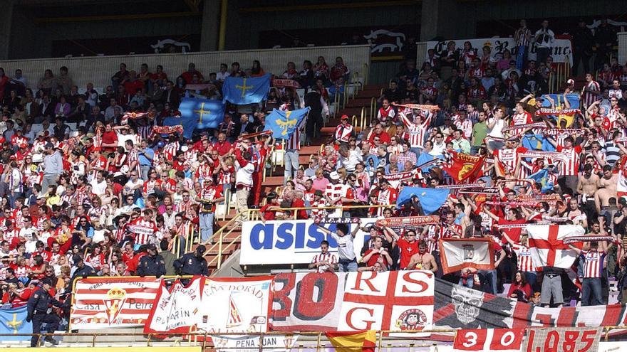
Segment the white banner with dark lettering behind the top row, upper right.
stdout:
<svg viewBox="0 0 627 352">
<path fill-rule="evenodd" d="M 490 55 L 492 58 L 502 58 L 503 52 L 505 49 L 509 50 L 512 53 L 512 58 L 516 58 L 517 46 L 514 38 L 476 38 L 476 39 L 457 39 L 455 42 L 455 49 L 458 51 L 462 51 L 464 49 L 464 43 L 470 42 L 472 48 L 477 50 L 477 55 L 482 57 L 484 46 L 489 46 L 492 51 Z M 428 58 L 429 49 L 435 50 L 435 55 L 440 55 L 442 51 L 447 49 L 447 43 L 450 41 L 427 41 L 427 45 L 425 46 L 425 58 Z M 536 60 L 536 43 L 532 43 L 532 47 L 528 49 L 529 55 L 527 58 L 529 60 Z M 551 56 L 553 57 L 553 61 L 555 63 L 565 63 L 566 58 L 568 58 L 568 62 L 573 63 L 573 49 L 571 45 L 571 41 L 568 39 L 555 39 L 553 43 L 553 48 L 551 50 Z"/>
</svg>

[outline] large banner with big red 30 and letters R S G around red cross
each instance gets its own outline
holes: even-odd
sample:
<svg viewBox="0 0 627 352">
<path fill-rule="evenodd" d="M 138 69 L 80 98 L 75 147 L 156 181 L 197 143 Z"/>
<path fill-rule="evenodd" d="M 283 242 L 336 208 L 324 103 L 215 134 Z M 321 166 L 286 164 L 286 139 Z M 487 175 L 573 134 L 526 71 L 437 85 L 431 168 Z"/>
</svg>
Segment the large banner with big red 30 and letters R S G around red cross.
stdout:
<svg viewBox="0 0 627 352">
<path fill-rule="evenodd" d="M 434 277 L 427 271 L 279 274 L 271 329 L 417 331 L 432 328 Z"/>
</svg>

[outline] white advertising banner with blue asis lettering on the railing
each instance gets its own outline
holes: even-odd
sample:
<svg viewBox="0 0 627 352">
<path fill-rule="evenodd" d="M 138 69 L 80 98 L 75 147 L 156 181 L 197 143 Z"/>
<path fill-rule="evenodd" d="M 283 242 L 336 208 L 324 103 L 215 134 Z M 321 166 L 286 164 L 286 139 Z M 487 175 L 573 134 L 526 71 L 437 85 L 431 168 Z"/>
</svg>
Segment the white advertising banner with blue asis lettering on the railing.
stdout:
<svg viewBox="0 0 627 352">
<path fill-rule="evenodd" d="M 362 218 L 361 226 L 374 225 L 377 219 Z M 358 224 L 348 225 L 349 235 Z M 336 231 L 338 224 L 316 224 L 314 220 L 286 221 L 245 221 L 242 224 L 242 251 L 239 257 L 241 265 L 287 265 L 309 264 L 314 255 L 320 253 L 320 243 L 329 242 L 329 252 L 337 255 L 338 244 L 333 236 L 322 228 Z M 365 231 L 358 230 L 353 239 L 355 255 L 361 258 L 361 248 L 370 238 Z"/>
</svg>

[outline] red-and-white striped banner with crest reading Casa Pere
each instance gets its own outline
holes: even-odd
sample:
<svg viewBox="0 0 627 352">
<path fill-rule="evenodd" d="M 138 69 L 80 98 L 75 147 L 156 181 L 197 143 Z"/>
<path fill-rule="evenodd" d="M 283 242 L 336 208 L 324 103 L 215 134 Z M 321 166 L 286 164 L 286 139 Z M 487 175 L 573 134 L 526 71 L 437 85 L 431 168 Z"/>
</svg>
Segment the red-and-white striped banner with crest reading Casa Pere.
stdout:
<svg viewBox="0 0 627 352">
<path fill-rule="evenodd" d="M 155 302 L 156 277 L 87 277 L 78 279 L 70 312 L 71 329 L 143 326 Z"/>
</svg>

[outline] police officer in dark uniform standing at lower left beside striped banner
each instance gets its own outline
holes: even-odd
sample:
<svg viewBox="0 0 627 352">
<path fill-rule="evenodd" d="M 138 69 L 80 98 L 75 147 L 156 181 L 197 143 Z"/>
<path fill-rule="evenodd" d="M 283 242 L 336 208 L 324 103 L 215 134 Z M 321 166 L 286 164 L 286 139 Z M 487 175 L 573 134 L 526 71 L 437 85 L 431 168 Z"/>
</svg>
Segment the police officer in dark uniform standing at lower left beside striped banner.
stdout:
<svg viewBox="0 0 627 352">
<path fill-rule="evenodd" d="M 58 329 L 58 324 L 61 319 L 54 313 L 48 313 L 48 306 L 53 304 L 54 306 L 61 307 L 61 302 L 50 296 L 50 287 L 52 282 L 50 279 L 41 280 L 41 287 L 33 293 L 31 298 L 28 299 L 28 315 L 26 321 L 33 321 L 33 334 L 41 333 L 41 324 L 48 324 L 48 334 L 53 333 Z M 37 346 L 39 336 L 33 336 L 31 338 L 31 347 Z M 58 345 L 52 336 L 46 336 L 43 341 Z"/>
</svg>

